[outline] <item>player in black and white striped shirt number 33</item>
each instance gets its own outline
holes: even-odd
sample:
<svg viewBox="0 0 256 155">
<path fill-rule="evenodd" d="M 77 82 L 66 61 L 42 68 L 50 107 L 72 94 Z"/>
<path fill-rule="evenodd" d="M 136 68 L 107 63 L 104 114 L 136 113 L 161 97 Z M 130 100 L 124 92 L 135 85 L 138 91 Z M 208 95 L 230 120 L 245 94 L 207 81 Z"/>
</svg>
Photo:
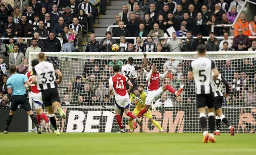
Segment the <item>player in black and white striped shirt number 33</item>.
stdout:
<svg viewBox="0 0 256 155">
<path fill-rule="evenodd" d="M 56 125 L 56 119 L 54 117 L 53 107 L 58 111 L 62 119 L 66 118 L 66 114 L 61 108 L 60 96 L 58 93 L 58 85 L 62 81 L 62 74 L 56 66 L 50 62 L 45 61 L 45 53 L 38 54 L 39 64 L 37 64 L 33 69 L 33 74 L 31 81 L 33 83 L 37 82 L 37 89 L 42 92 L 42 99 L 45 108 L 48 111 L 50 117 L 50 123 L 54 127 L 54 133 L 57 136 L 60 135 L 60 131 Z M 56 80 L 56 74 L 58 79 Z"/>
</svg>

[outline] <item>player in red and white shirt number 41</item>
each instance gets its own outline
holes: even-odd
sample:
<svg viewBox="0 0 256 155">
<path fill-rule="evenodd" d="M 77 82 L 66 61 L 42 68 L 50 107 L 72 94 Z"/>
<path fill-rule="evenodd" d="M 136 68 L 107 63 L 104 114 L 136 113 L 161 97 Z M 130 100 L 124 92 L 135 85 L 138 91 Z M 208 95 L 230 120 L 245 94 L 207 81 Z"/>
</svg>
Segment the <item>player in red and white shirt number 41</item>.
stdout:
<svg viewBox="0 0 256 155">
<path fill-rule="evenodd" d="M 109 79 L 109 93 L 110 95 L 115 96 L 115 106 L 114 110 L 116 112 L 116 121 L 120 127 L 120 132 L 125 132 L 122 123 L 122 117 L 120 116 L 121 109 L 124 109 L 124 112 L 129 117 L 135 119 L 139 125 L 142 126 L 142 122 L 134 113 L 130 112 L 130 101 L 129 95 L 126 91 L 126 83 L 129 85 L 128 92 L 132 90 L 133 85 L 132 82 L 126 76 L 122 76 L 119 74 L 120 67 L 118 65 L 113 66 L 114 76 Z"/>
</svg>

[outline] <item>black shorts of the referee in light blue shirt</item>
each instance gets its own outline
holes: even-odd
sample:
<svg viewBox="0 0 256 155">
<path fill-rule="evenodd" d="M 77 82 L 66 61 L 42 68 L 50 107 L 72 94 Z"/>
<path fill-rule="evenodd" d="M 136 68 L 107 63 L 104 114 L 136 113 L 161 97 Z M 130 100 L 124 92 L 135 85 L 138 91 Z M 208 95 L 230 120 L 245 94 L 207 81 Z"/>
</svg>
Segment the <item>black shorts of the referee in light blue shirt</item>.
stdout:
<svg viewBox="0 0 256 155">
<path fill-rule="evenodd" d="M 27 99 L 27 95 L 12 95 L 12 104 L 10 109 L 12 111 L 16 111 L 19 104 L 24 108 L 26 112 L 32 110 L 29 104 L 29 100 Z"/>
</svg>

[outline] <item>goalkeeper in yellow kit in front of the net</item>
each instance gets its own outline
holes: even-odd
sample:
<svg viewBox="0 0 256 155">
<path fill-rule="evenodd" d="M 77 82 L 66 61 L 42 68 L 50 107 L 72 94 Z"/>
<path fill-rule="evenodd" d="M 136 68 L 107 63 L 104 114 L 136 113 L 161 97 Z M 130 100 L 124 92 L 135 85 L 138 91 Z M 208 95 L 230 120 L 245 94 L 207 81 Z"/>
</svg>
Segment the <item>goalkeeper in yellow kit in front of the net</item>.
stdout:
<svg viewBox="0 0 256 155">
<path fill-rule="evenodd" d="M 143 102 L 140 103 L 136 100 L 136 108 L 132 112 L 136 116 L 139 114 L 139 112 L 142 109 L 144 109 L 145 100 L 146 100 L 146 96 L 147 96 L 147 93 L 144 92 L 144 89 L 145 89 L 144 85 L 139 85 L 138 89 L 140 91 L 140 98 L 142 99 Z M 134 94 L 132 94 L 132 93 L 130 94 L 130 103 L 134 100 L 135 97 L 136 96 Z M 152 107 L 152 109 L 155 109 L 154 106 L 151 106 L 151 107 Z M 145 115 L 145 117 L 147 117 L 149 119 L 149 121 L 151 123 L 153 123 L 160 130 L 160 132 L 165 132 L 165 130 L 162 129 L 161 125 L 155 119 L 153 119 L 153 116 L 151 115 L 150 110 L 147 110 L 147 112 L 144 113 L 144 115 Z M 133 119 L 131 117 L 129 117 L 128 121 L 129 121 L 129 127 L 130 127 L 130 131 L 128 131 L 128 132 L 134 132 L 134 129 L 136 129 L 137 123 L 133 124 Z"/>
</svg>

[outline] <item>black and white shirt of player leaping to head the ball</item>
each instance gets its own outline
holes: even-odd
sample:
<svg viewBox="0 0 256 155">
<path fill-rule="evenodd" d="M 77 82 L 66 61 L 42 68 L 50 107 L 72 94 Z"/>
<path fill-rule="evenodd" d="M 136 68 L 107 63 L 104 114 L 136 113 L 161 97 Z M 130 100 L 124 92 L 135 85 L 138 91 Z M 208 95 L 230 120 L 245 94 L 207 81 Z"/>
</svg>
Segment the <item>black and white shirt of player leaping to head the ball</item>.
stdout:
<svg viewBox="0 0 256 155">
<path fill-rule="evenodd" d="M 121 73 L 128 78 L 136 79 L 137 70 L 139 70 L 140 68 L 142 68 L 140 65 L 133 66 L 130 64 L 126 64 L 125 66 L 122 66 Z"/>
</svg>

